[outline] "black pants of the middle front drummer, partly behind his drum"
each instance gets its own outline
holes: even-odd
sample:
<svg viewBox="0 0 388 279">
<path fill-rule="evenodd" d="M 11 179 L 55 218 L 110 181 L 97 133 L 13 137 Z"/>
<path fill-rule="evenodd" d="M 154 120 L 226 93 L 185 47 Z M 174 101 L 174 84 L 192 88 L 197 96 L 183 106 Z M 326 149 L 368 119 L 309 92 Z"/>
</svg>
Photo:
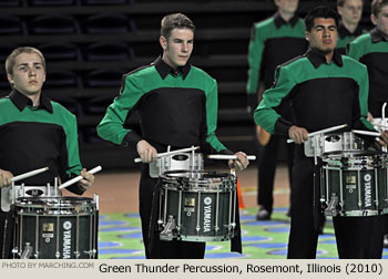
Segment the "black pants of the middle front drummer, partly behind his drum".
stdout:
<svg viewBox="0 0 388 279">
<path fill-rule="evenodd" d="M 162 241 L 156 232 L 153 238 L 153 245 L 150 249 L 150 225 L 153 205 L 153 192 L 157 184 L 156 178 L 149 175 L 149 164 L 142 164 L 141 180 L 139 188 L 140 196 L 140 218 L 142 220 L 143 241 L 145 247 L 145 257 L 147 259 L 203 259 L 205 256 L 205 242 L 191 241 Z M 154 231 L 151 231 L 154 234 Z"/>
</svg>

